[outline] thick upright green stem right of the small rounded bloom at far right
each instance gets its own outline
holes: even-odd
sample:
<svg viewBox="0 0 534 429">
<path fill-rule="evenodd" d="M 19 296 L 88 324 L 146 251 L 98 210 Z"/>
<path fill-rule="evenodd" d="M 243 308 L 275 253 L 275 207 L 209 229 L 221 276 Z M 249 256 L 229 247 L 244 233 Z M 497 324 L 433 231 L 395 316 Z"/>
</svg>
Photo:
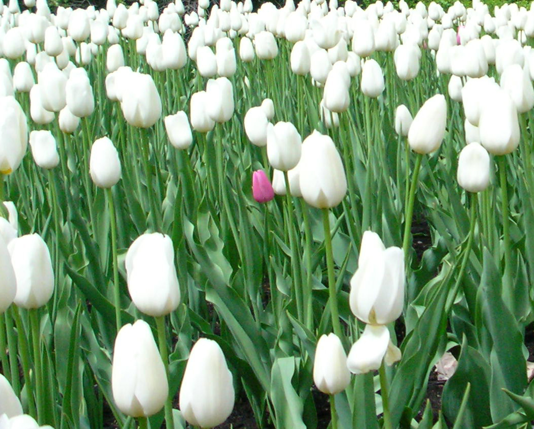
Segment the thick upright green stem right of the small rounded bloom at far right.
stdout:
<svg viewBox="0 0 534 429">
<path fill-rule="evenodd" d="M 499 176 L 501 185 L 501 214 L 502 214 L 502 241 L 504 243 L 504 276 L 502 278 L 502 297 L 508 309 L 513 310 L 512 291 L 512 251 L 510 247 L 510 214 L 508 208 L 508 183 L 506 181 L 506 158 L 498 156 Z"/>
</svg>

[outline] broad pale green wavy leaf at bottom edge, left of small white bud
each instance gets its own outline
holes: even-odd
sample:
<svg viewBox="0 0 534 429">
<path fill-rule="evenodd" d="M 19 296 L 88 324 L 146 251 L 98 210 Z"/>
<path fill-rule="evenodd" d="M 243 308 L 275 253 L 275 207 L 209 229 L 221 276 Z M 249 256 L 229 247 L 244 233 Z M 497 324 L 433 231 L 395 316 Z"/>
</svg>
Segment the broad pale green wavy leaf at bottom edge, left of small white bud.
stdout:
<svg viewBox="0 0 534 429">
<path fill-rule="evenodd" d="M 302 420 L 304 404 L 291 383 L 295 373 L 295 358 L 277 358 L 271 370 L 271 400 L 277 427 L 306 429 Z"/>
</svg>

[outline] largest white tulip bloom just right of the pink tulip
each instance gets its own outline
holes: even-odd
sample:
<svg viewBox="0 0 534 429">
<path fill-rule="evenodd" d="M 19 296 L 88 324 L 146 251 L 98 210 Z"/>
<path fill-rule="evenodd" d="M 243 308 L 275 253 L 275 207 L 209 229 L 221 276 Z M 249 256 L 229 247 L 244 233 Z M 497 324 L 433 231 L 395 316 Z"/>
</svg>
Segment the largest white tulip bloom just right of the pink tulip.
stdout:
<svg viewBox="0 0 534 429">
<path fill-rule="evenodd" d="M 302 143 L 300 190 L 313 207 L 335 207 L 347 193 L 347 177 L 332 139 L 313 131 Z"/>
</svg>

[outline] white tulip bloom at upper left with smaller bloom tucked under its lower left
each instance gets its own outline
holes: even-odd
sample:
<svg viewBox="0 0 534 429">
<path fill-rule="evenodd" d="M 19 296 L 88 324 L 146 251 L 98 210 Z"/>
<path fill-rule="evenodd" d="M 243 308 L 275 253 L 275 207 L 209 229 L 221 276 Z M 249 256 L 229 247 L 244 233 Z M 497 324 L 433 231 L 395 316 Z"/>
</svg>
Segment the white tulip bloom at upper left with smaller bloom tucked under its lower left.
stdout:
<svg viewBox="0 0 534 429">
<path fill-rule="evenodd" d="M 131 92 L 138 90 L 138 86 L 132 86 Z M 78 68 L 70 72 L 70 76 L 65 86 L 67 107 L 70 112 L 78 118 L 85 118 L 95 110 L 95 97 L 93 88 L 83 68 Z"/>
</svg>

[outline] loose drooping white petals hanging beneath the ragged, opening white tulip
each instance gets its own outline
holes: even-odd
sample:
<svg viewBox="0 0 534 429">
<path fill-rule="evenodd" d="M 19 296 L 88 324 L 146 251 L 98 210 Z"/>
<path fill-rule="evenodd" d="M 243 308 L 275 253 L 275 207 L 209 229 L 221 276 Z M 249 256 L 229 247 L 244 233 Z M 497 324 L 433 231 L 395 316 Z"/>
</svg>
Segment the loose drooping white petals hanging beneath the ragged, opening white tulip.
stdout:
<svg viewBox="0 0 534 429">
<path fill-rule="evenodd" d="M 400 360 L 400 350 L 391 342 L 386 326 L 366 325 L 363 334 L 352 347 L 347 358 L 347 367 L 352 374 L 367 374 L 382 365 Z"/>
</svg>

